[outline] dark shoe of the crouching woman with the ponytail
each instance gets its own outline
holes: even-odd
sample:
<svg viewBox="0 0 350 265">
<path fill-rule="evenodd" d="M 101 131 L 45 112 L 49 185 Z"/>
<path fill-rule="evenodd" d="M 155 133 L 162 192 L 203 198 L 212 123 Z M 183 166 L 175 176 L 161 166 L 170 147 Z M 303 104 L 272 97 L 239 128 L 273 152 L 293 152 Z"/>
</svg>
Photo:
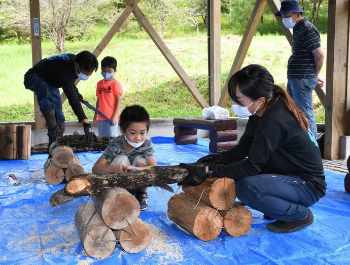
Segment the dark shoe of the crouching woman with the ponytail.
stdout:
<svg viewBox="0 0 350 265">
<path fill-rule="evenodd" d="M 275 221 L 273 223 L 268 223 L 266 225 L 266 228 L 271 232 L 277 234 L 292 233 L 312 224 L 313 220 L 313 214 L 309 210 L 309 214 L 304 219 L 290 223 L 284 221 Z"/>
</svg>

